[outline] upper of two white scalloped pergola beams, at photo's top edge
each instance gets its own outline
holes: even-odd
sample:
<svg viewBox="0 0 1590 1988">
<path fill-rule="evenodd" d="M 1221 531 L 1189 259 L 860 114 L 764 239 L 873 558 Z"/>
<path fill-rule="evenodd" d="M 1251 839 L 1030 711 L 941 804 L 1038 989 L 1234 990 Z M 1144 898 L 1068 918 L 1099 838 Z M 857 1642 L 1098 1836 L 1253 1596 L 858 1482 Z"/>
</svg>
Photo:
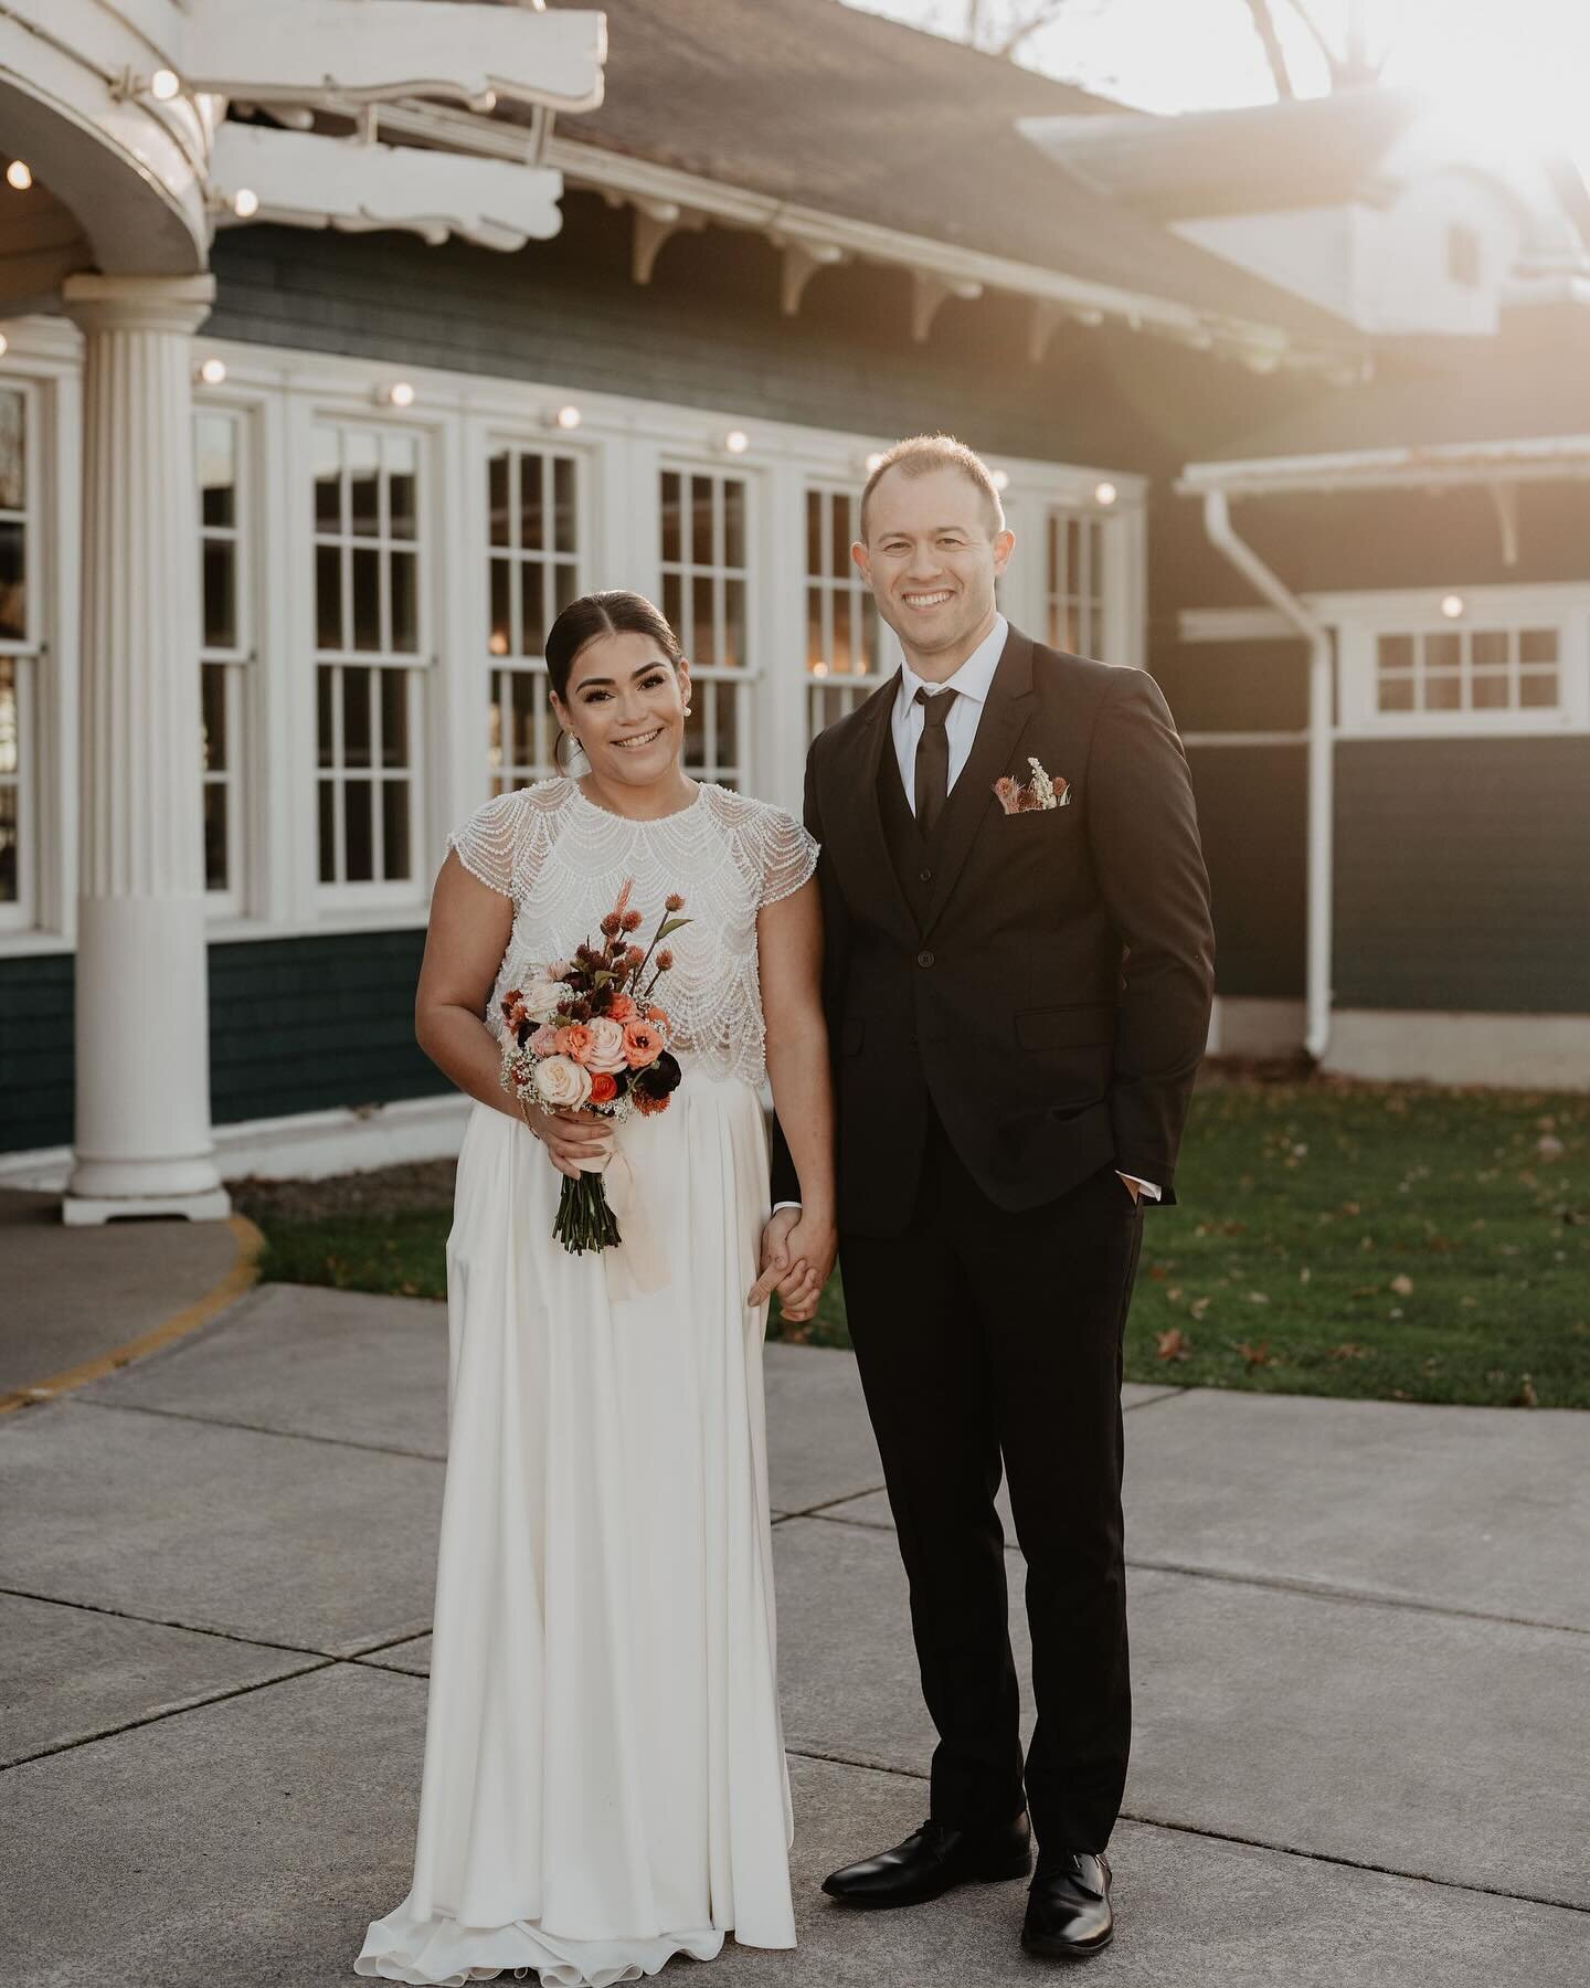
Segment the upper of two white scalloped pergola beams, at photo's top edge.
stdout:
<svg viewBox="0 0 1590 1988">
<path fill-rule="evenodd" d="M 250 103 L 493 95 L 556 111 L 602 101 L 606 20 L 433 0 L 195 0 L 183 82 Z"/>
</svg>

